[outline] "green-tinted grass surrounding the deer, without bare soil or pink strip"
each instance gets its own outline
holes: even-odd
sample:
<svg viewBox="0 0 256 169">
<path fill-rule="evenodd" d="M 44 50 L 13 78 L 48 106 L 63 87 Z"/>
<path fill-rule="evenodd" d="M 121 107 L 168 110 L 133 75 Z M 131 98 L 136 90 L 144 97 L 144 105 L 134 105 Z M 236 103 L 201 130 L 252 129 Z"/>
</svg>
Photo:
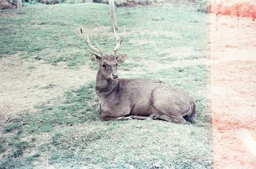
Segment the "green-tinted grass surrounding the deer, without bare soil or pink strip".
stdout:
<svg viewBox="0 0 256 169">
<path fill-rule="evenodd" d="M 85 3 L 28 6 L 22 15 L 1 11 L 0 61 L 19 54 L 31 62 L 28 70 L 35 62 L 56 68 L 65 62 L 70 71 L 84 65 L 96 71 L 79 27 L 111 52 L 108 10 Z M 118 8 L 116 15 L 127 29 L 118 52 L 129 57 L 122 77 L 161 79 L 189 92 L 198 107 L 195 124 L 100 121 L 94 81 L 87 82 L 33 105 L 36 111 L 1 114 L 8 121 L 1 120 L 0 168 L 213 168 L 208 15 L 184 5 Z"/>
</svg>

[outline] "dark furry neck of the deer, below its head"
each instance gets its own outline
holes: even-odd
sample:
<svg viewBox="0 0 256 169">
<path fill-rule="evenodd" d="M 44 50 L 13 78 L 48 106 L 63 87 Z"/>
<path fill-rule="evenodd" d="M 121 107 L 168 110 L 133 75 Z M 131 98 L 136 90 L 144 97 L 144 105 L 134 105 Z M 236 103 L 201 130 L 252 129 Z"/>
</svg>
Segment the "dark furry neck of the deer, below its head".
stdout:
<svg viewBox="0 0 256 169">
<path fill-rule="evenodd" d="M 95 85 L 95 90 L 97 93 L 108 95 L 115 91 L 117 85 L 118 79 L 106 79 L 102 77 L 101 70 L 98 71 Z"/>
</svg>

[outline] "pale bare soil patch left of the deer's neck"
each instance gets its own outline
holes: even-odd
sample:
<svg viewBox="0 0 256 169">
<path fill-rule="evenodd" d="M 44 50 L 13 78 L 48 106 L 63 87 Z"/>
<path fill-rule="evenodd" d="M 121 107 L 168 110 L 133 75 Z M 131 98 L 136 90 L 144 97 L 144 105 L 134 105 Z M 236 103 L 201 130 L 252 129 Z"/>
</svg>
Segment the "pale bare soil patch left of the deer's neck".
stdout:
<svg viewBox="0 0 256 169">
<path fill-rule="evenodd" d="M 0 121 L 33 112 L 35 105 L 47 103 L 64 91 L 93 80 L 96 75 L 88 65 L 72 70 L 65 62 L 52 66 L 44 61 L 20 59 L 19 54 L 1 59 L 0 67 Z"/>
</svg>

